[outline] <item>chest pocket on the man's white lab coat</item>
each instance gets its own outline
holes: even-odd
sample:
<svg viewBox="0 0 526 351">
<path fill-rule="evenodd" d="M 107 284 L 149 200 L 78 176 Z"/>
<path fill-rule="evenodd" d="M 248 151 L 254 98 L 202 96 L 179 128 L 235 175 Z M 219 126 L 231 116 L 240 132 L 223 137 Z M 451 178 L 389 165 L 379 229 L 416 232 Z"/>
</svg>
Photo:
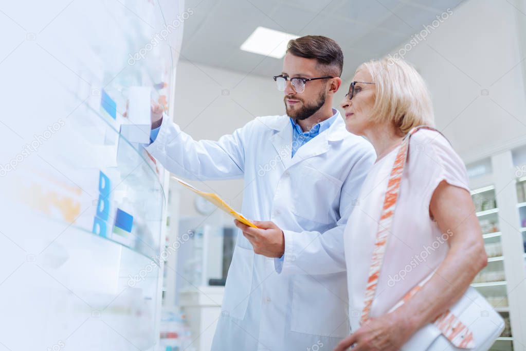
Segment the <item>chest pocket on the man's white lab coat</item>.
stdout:
<svg viewBox="0 0 526 351">
<path fill-rule="evenodd" d="M 291 184 L 291 212 L 300 222 L 301 219 L 321 224 L 337 222 L 341 180 L 318 169 L 300 167 L 299 177 Z"/>
</svg>

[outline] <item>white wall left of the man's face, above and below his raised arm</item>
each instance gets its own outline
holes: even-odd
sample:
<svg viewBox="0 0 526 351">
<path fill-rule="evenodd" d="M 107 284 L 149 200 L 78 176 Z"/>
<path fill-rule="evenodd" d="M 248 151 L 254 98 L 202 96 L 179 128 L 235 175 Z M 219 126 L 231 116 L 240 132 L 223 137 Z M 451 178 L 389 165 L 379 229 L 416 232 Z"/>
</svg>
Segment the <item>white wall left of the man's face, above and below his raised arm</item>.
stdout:
<svg viewBox="0 0 526 351">
<path fill-rule="evenodd" d="M 217 140 L 256 116 L 285 114 L 283 93 L 268 77 L 245 75 L 180 60 L 177 66 L 174 116 L 181 129 L 194 139 Z M 228 94 L 228 95 L 224 95 Z M 215 192 L 241 210 L 242 180 L 191 182 Z M 198 216 L 194 195 L 181 192 L 181 216 Z"/>
</svg>

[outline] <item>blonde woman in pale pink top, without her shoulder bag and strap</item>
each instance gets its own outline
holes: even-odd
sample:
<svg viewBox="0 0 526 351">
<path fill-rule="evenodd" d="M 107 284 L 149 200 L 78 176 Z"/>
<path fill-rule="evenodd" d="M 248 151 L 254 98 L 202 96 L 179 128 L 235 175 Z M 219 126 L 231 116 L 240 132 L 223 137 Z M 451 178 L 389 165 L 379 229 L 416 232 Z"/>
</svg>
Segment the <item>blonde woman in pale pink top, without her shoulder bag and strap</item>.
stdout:
<svg viewBox="0 0 526 351">
<path fill-rule="evenodd" d="M 403 137 L 433 126 L 426 84 L 403 61 L 383 59 L 358 67 L 341 103 L 347 131 L 366 137 L 377 160 L 363 183 L 345 230 L 349 317 L 353 334 L 336 350 L 398 350 L 446 312 L 487 264 L 466 168 L 440 133 L 420 129 L 409 139 L 397 207 L 370 318 L 360 324 L 369 267 L 387 182 Z M 421 290 L 389 312 L 411 288 Z"/>
</svg>

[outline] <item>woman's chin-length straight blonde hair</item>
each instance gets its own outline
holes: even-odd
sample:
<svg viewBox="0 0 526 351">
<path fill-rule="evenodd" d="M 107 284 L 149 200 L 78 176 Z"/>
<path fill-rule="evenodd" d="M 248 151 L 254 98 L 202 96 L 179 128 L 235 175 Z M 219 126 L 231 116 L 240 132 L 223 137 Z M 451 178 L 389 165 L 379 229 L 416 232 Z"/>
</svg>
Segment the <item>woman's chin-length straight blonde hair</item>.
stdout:
<svg viewBox="0 0 526 351">
<path fill-rule="evenodd" d="M 386 57 L 361 64 L 375 83 L 376 101 L 372 118 L 376 123 L 391 122 L 406 135 L 419 125 L 434 126 L 433 105 L 422 76 L 402 59 Z"/>
</svg>

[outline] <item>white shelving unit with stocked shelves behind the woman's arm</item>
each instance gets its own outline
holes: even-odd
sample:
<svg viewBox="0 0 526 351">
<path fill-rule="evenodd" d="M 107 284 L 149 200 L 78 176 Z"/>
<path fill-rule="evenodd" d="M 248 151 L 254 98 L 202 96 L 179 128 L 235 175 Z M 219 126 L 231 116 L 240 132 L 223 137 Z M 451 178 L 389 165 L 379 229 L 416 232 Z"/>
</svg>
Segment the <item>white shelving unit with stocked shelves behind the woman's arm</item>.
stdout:
<svg viewBox="0 0 526 351">
<path fill-rule="evenodd" d="M 506 323 L 492 350 L 526 350 L 526 178 L 518 172 L 520 160 L 526 159 L 524 151 L 504 151 L 467 166 L 488 254 L 488 265 L 471 285 Z"/>
</svg>

